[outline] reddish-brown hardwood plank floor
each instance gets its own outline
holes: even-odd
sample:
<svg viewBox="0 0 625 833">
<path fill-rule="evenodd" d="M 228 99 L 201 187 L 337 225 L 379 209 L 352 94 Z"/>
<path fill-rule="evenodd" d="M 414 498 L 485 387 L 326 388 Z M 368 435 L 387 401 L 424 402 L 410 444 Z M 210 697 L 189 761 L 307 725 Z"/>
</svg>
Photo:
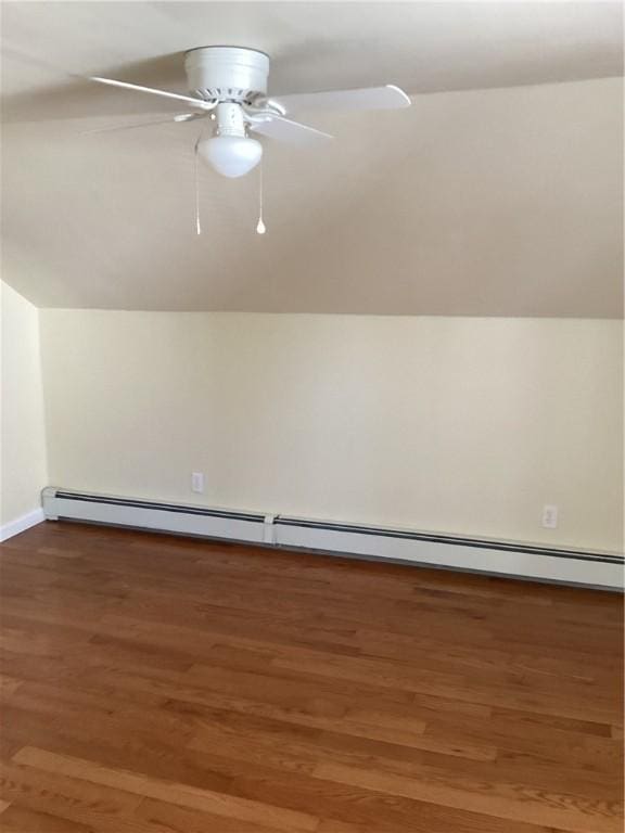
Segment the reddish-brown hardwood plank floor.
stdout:
<svg viewBox="0 0 625 833">
<path fill-rule="evenodd" d="M 616 833 L 623 600 L 47 523 L 2 544 L 3 833 Z"/>
</svg>

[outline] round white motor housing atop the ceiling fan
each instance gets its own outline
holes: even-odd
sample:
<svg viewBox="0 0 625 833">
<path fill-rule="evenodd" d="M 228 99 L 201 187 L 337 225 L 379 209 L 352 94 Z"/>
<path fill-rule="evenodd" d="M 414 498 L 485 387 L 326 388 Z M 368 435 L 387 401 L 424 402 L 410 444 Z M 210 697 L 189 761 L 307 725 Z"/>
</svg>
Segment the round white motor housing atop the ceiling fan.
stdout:
<svg viewBox="0 0 625 833">
<path fill-rule="evenodd" d="M 191 92 L 202 99 L 251 103 L 267 93 L 269 55 L 244 47 L 200 47 L 184 55 Z"/>
</svg>

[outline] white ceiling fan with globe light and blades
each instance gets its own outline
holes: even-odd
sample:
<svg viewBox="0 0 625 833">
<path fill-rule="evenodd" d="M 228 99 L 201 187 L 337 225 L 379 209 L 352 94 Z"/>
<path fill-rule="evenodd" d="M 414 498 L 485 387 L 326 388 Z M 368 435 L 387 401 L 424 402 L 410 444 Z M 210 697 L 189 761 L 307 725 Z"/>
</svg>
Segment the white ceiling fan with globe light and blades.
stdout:
<svg viewBox="0 0 625 833">
<path fill-rule="evenodd" d="M 162 95 L 184 102 L 192 112 L 181 113 L 167 123 L 211 119 L 211 136 L 202 136 L 195 153 L 225 177 L 250 172 L 263 156 L 263 145 L 251 133 L 295 145 L 315 145 L 332 137 L 289 118 L 291 113 L 309 110 L 395 110 L 410 106 L 408 95 L 394 85 L 355 90 L 331 90 L 289 95 L 268 95 L 269 56 L 242 47 L 201 47 L 184 55 L 190 95 L 127 84 L 113 78 L 90 76 L 99 84 Z M 104 128 L 105 131 L 144 127 L 163 121 Z M 93 132 L 102 132 L 97 130 Z"/>
</svg>

